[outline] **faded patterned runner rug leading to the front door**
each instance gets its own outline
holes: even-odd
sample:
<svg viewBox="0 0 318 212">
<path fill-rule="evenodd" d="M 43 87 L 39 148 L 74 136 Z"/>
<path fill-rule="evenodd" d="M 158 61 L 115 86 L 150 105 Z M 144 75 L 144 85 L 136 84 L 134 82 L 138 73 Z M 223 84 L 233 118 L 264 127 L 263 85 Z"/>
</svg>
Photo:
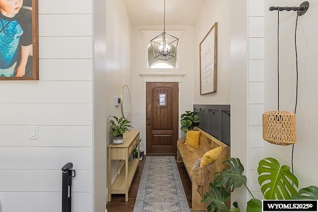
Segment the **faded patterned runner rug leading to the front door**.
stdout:
<svg viewBox="0 0 318 212">
<path fill-rule="evenodd" d="M 134 212 L 190 212 L 174 157 L 146 157 Z"/>
</svg>

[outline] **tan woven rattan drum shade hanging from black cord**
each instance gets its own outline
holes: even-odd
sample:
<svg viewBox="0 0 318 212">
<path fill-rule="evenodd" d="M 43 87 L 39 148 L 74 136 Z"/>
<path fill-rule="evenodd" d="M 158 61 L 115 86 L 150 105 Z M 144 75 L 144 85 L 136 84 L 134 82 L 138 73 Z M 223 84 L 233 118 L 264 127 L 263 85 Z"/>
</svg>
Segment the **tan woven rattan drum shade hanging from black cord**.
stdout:
<svg viewBox="0 0 318 212">
<path fill-rule="evenodd" d="M 296 115 L 289 111 L 263 113 L 263 139 L 277 145 L 296 143 Z"/>
</svg>

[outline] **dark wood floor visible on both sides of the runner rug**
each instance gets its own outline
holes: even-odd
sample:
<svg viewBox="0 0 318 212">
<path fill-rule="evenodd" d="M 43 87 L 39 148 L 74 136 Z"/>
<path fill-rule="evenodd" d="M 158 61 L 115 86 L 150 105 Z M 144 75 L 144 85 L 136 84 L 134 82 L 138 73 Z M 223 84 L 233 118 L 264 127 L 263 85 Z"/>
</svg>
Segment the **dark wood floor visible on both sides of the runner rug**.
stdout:
<svg viewBox="0 0 318 212">
<path fill-rule="evenodd" d="M 130 187 L 128 194 L 128 202 L 125 202 L 124 194 L 113 194 L 111 197 L 111 202 L 107 203 L 107 212 L 133 212 L 135 201 L 137 197 L 139 182 L 141 175 L 143 173 L 143 168 L 145 165 L 146 155 L 143 160 L 140 161 L 140 166 L 137 169 L 136 175 L 134 177 L 133 183 Z M 182 180 L 185 195 L 187 197 L 189 207 L 191 208 L 191 180 L 188 176 L 187 170 L 183 163 L 177 163 L 179 174 Z M 110 195 L 110 194 L 109 194 Z"/>
</svg>

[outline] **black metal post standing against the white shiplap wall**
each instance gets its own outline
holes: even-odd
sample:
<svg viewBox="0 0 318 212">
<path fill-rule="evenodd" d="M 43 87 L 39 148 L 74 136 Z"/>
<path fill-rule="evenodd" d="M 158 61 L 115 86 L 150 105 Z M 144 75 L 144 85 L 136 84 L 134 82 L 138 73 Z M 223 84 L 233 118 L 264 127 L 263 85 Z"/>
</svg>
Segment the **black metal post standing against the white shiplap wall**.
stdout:
<svg viewBox="0 0 318 212">
<path fill-rule="evenodd" d="M 67 163 L 62 167 L 62 212 L 72 211 L 72 178 L 75 170 L 73 163 Z"/>
</svg>

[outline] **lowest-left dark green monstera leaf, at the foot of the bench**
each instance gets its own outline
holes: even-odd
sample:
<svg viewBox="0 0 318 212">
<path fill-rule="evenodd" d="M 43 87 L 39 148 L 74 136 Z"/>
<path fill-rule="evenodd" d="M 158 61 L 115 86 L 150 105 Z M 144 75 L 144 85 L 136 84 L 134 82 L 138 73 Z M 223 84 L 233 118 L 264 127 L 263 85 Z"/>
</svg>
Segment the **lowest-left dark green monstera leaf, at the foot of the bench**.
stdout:
<svg viewBox="0 0 318 212">
<path fill-rule="evenodd" d="M 223 186 L 216 187 L 213 183 L 210 183 L 210 191 L 204 194 L 204 199 L 201 200 L 201 203 L 211 204 L 207 207 L 207 210 L 210 212 L 214 209 L 214 212 L 228 212 L 229 209 L 225 205 L 225 202 L 231 199 L 230 193 Z"/>
</svg>

